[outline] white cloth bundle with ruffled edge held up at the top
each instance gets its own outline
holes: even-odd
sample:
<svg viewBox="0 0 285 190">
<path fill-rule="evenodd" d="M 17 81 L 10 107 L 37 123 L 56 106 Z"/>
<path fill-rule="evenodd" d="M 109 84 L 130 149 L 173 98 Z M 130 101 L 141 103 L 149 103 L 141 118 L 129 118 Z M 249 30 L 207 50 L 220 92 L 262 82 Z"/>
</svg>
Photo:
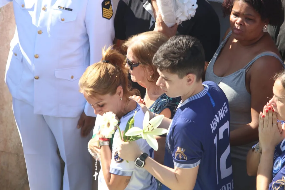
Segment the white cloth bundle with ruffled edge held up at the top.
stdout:
<svg viewBox="0 0 285 190">
<path fill-rule="evenodd" d="M 156 0 L 156 3 L 162 20 L 168 27 L 191 19 L 198 7 L 197 0 Z"/>
</svg>

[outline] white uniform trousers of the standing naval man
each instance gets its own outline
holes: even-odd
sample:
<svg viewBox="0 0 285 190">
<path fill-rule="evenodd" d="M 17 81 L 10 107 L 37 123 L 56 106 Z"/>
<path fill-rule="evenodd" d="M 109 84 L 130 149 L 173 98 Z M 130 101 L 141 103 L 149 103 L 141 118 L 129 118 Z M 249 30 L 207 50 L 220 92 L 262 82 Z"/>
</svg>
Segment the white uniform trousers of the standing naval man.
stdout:
<svg viewBox="0 0 285 190">
<path fill-rule="evenodd" d="M 59 190 L 60 159 L 65 162 L 63 190 L 91 190 L 90 137 L 82 138 L 77 118 L 34 115 L 32 105 L 13 98 L 13 113 L 23 145 L 30 190 Z"/>
</svg>

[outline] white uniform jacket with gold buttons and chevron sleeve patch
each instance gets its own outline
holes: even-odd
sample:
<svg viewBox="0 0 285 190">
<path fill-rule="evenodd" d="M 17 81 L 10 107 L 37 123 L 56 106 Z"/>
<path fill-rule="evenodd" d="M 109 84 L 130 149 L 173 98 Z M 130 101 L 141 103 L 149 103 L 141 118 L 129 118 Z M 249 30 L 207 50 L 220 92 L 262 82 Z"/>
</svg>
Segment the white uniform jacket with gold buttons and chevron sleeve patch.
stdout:
<svg viewBox="0 0 285 190">
<path fill-rule="evenodd" d="M 5 75 L 12 96 L 33 105 L 34 114 L 95 116 L 78 81 L 113 42 L 111 0 L 13 0 L 13 6 L 16 31 Z"/>
</svg>

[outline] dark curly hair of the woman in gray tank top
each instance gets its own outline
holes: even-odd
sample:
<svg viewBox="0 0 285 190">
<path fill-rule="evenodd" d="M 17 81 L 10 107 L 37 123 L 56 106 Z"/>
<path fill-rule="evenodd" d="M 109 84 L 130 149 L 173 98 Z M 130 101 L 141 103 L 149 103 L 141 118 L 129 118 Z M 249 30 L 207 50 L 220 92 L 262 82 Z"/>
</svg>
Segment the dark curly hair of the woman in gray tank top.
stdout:
<svg viewBox="0 0 285 190">
<path fill-rule="evenodd" d="M 224 16 L 230 15 L 236 0 L 224 0 L 222 10 Z M 284 21 L 281 0 L 242 0 L 249 4 L 261 16 L 262 20 L 268 19 L 272 26 L 280 26 Z M 284 0 L 283 0 L 284 1 Z"/>
</svg>

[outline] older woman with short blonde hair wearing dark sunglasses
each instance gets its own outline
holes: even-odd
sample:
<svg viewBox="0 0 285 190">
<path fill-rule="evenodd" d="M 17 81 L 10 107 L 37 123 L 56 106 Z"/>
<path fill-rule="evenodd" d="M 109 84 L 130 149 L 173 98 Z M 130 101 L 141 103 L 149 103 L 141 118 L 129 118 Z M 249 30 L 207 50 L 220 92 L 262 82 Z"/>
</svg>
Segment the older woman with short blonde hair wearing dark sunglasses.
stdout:
<svg viewBox="0 0 285 190">
<path fill-rule="evenodd" d="M 144 32 L 130 37 L 124 44 L 123 49 L 127 52 L 126 67 L 129 67 L 129 73 L 133 82 L 137 82 L 146 88 L 143 102 L 146 107 L 154 113 L 164 115 L 172 119 L 176 108 L 180 102 L 180 98 L 170 98 L 165 92 L 156 85 L 159 77 L 157 69 L 152 64 L 152 58 L 158 48 L 168 40 L 164 34 L 160 32 Z M 137 98 L 137 97 L 133 97 Z M 139 101 L 139 102 L 140 102 Z M 165 136 L 159 136 L 158 151 L 154 152 L 154 159 L 163 164 L 165 152 Z M 158 183 L 160 188 L 160 183 Z"/>
</svg>

